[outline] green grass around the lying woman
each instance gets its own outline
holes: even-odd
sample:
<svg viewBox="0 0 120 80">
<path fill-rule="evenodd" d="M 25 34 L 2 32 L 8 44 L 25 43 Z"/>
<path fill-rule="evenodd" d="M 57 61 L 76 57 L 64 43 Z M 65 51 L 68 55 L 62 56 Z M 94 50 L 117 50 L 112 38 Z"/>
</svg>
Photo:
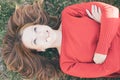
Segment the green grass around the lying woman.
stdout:
<svg viewBox="0 0 120 80">
<path fill-rule="evenodd" d="M 83 1 L 93 1 L 93 0 L 44 0 L 45 10 L 53 16 L 59 16 L 61 11 L 65 6 L 80 3 Z M 120 8 L 120 0 L 97 0 L 113 4 Z M 33 2 L 33 0 L 0 0 L 0 47 L 2 45 L 2 39 L 5 34 L 5 26 L 8 18 L 12 14 L 15 8 L 15 3 L 23 4 L 24 2 Z M 16 72 L 10 72 L 6 69 L 4 62 L 0 61 L 0 65 L 3 66 L 2 73 L 0 74 L 0 80 L 22 80 L 22 77 Z M 66 76 L 65 80 L 120 80 L 120 78 L 95 78 L 95 79 L 85 79 L 77 78 L 72 76 Z"/>
</svg>

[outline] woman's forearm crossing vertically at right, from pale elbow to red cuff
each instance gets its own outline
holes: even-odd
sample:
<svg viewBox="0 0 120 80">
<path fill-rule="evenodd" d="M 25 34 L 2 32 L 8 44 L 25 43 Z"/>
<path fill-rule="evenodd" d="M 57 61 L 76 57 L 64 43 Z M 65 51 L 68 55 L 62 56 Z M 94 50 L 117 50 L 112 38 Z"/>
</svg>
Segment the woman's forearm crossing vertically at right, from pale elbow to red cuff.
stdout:
<svg viewBox="0 0 120 80">
<path fill-rule="evenodd" d="M 104 16 L 105 15 L 105 16 Z M 119 10 L 118 8 L 105 4 L 105 10 L 101 16 L 100 35 L 96 48 L 96 53 L 106 55 L 110 44 L 116 35 L 119 27 Z"/>
</svg>

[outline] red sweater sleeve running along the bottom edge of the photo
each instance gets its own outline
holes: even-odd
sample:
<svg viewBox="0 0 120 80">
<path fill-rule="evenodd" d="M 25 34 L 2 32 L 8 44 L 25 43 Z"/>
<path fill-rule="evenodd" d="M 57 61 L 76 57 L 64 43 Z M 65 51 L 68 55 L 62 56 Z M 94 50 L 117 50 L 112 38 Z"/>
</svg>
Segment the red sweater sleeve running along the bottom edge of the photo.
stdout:
<svg viewBox="0 0 120 80">
<path fill-rule="evenodd" d="M 119 70 L 118 64 L 118 55 L 112 53 L 108 55 L 103 64 L 81 63 L 65 54 L 61 54 L 60 57 L 60 67 L 62 71 L 71 76 L 80 78 L 97 78 L 108 76 Z"/>
</svg>

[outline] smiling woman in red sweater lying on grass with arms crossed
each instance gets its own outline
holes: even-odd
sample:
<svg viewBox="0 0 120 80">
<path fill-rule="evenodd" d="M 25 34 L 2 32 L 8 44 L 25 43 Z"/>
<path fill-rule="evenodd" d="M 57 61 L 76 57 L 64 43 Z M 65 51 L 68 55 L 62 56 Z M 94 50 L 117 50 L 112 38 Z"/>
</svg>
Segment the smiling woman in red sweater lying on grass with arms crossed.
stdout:
<svg viewBox="0 0 120 80">
<path fill-rule="evenodd" d="M 35 54 L 57 48 L 60 67 L 69 75 L 85 78 L 117 76 L 120 38 L 116 7 L 101 2 L 68 6 L 62 12 L 61 26 L 53 30 L 48 26 L 49 16 L 40 4 L 20 7 L 9 19 L 3 48 L 8 69 L 30 78 L 36 75 L 39 80 L 58 77 L 55 60 Z"/>
</svg>

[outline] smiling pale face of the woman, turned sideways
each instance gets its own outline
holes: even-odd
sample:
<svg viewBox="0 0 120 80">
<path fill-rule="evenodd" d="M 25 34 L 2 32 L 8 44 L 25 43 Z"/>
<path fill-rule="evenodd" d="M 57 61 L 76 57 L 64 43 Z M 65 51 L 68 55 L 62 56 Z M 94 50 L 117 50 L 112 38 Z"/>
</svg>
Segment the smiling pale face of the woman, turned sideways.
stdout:
<svg viewBox="0 0 120 80">
<path fill-rule="evenodd" d="M 56 40 L 55 30 L 47 25 L 32 25 L 22 31 L 22 42 L 30 49 L 44 51 Z"/>
</svg>

